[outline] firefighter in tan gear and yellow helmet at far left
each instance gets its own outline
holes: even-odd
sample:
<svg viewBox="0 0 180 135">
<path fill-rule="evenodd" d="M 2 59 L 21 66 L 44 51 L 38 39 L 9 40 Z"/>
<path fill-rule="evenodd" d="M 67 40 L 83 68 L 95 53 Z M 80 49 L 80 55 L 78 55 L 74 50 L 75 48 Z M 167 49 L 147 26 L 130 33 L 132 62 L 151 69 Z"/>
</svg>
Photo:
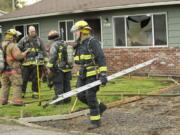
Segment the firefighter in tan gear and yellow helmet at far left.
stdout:
<svg viewBox="0 0 180 135">
<path fill-rule="evenodd" d="M 16 40 L 19 35 L 19 31 L 10 29 L 5 33 L 5 40 L 2 43 L 2 49 L 5 54 L 5 69 L 3 70 L 1 77 L 1 105 L 6 105 L 8 103 L 10 85 L 13 88 L 12 104 L 18 106 L 23 105 L 21 98 L 22 74 L 20 60 L 26 57 L 29 50 L 26 50 L 25 52 L 21 52 L 19 50 L 16 44 Z"/>
</svg>

